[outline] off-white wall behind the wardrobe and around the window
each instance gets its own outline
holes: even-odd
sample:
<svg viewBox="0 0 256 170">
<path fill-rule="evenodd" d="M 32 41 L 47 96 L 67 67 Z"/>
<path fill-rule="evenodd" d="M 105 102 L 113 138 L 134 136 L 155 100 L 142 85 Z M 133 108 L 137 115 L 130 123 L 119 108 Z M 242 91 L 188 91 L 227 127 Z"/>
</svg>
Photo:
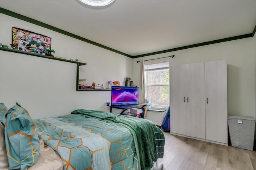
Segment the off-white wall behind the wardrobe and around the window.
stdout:
<svg viewBox="0 0 256 170">
<path fill-rule="evenodd" d="M 228 61 L 228 114 L 255 117 L 255 36 L 229 42 L 194 47 L 170 53 L 133 59 L 133 79 L 139 82 L 140 59 L 154 59 L 175 55 L 174 58 L 151 60 L 156 62 L 169 60 L 170 65 L 198 63 L 215 60 Z"/>
</svg>

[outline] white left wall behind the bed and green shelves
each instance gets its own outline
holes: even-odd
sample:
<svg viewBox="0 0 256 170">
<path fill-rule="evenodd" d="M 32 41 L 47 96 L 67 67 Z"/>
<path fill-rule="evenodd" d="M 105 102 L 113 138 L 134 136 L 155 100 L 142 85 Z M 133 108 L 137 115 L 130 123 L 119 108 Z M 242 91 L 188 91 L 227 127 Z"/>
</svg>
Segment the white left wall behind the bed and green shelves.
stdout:
<svg viewBox="0 0 256 170">
<path fill-rule="evenodd" d="M 12 27 L 52 38 L 55 56 L 79 59 L 80 79 L 108 86 L 132 77 L 132 59 L 40 26 L 0 14 L 0 42 L 10 46 Z M 61 28 L 65 30 L 64 28 Z M 70 114 L 75 109 L 109 111 L 110 91 L 76 91 L 76 64 L 0 51 L 0 102 L 18 101 L 33 119 Z"/>
</svg>

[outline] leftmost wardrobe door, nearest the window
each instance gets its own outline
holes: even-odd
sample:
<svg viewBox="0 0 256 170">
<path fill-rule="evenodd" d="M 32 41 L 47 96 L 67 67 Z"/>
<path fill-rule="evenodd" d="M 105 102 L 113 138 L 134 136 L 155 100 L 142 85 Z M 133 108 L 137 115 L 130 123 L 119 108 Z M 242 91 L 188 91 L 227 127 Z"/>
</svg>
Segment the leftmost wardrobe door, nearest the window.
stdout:
<svg viewBox="0 0 256 170">
<path fill-rule="evenodd" d="M 186 65 L 170 67 L 170 132 L 186 135 Z"/>
</svg>

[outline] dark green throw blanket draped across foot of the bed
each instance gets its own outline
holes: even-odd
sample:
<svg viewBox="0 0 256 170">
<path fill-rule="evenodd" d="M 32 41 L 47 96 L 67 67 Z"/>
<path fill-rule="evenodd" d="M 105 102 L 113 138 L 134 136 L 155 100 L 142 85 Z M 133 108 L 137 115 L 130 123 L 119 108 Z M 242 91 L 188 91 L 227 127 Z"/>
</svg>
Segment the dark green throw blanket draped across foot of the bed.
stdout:
<svg viewBox="0 0 256 170">
<path fill-rule="evenodd" d="M 84 117 L 94 117 L 103 121 L 120 123 L 129 128 L 134 137 L 136 152 L 139 159 L 140 168 L 148 170 L 158 158 L 163 158 L 164 135 L 160 128 L 146 119 L 117 115 L 102 111 L 88 111 L 78 109 L 71 114 L 84 115 Z"/>
</svg>

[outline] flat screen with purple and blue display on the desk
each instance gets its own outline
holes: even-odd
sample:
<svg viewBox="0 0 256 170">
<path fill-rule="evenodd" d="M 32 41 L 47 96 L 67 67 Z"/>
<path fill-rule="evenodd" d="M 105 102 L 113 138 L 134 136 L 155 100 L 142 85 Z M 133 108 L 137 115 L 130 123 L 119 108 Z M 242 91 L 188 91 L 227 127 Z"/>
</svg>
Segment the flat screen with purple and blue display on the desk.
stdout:
<svg viewBox="0 0 256 170">
<path fill-rule="evenodd" d="M 111 105 L 138 105 L 139 87 L 112 86 Z"/>
</svg>

